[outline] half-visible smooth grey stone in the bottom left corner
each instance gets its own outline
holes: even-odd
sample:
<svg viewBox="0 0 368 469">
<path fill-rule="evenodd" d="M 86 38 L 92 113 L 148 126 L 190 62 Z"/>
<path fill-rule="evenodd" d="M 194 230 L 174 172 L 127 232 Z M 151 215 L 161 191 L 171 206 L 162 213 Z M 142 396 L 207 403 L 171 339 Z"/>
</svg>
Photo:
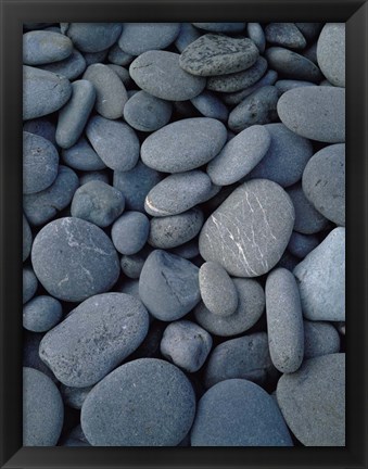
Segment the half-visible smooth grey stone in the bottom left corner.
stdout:
<svg viewBox="0 0 368 469">
<path fill-rule="evenodd" d="M 55 446 L 63 421 L 63 400 L 55 384 L 42 372 L 24 367 L 23 446 Z"/>
</svg>

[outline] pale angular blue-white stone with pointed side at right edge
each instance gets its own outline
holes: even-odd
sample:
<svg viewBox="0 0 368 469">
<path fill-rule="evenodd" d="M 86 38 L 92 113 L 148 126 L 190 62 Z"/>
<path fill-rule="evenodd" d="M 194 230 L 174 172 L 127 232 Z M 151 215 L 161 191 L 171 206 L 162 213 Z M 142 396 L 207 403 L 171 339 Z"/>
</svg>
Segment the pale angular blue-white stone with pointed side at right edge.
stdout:
<svg viewBox="0 0 368 469">
<path fill-rule="evenodd" d="M 310 320 L 345 320 L 345 228 L 333 229 L 294 269 L 303 314 Z"/>
</svg>

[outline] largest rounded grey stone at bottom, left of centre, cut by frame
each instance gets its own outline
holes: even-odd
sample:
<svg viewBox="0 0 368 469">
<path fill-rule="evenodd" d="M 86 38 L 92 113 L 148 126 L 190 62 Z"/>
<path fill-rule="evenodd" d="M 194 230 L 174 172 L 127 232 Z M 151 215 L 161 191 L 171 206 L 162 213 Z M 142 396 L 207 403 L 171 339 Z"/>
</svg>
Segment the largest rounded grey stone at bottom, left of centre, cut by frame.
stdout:
<svg viewBox="0 0 368 469">
<path fill-rule="evenodd" d="M 194 414 L 194 392 L 183 372 L 167 362 L 141 358 L 93 388 L 81 407 L 81 428 L 93 446 L 176 446 Z"/>
</svg>

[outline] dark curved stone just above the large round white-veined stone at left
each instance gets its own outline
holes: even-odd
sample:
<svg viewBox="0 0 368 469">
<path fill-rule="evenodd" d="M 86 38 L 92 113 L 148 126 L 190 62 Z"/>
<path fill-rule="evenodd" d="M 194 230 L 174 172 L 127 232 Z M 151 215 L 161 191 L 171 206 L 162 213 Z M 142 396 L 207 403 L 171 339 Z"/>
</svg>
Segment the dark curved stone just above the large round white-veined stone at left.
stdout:
<svg viewBox="0 0 368 469">
<path fill-rule="evenodd" d="M 59 174 L 48 189 L 23 197 L 23 210 L 31 225 L 43 225 L 64 210 L 79 186 L 78 176 L 67 166 L 60 165 Z"/>
</svg>

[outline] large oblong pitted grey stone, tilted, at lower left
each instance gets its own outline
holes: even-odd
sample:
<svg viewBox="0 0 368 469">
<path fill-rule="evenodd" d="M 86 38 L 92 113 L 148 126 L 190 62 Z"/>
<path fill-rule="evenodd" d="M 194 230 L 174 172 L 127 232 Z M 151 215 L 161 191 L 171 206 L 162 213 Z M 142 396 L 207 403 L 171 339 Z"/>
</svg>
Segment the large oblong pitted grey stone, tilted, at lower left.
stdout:
<svg viewBox="0 0 368 469">
<path fill-rule="evenodd" d="M 86 388 L 129 356 L 148 329 L 149 315 L 139 300 L 124 293 L 93 295 L 43 337 L 39 355 L 63 384 Z"/>
</svg>

